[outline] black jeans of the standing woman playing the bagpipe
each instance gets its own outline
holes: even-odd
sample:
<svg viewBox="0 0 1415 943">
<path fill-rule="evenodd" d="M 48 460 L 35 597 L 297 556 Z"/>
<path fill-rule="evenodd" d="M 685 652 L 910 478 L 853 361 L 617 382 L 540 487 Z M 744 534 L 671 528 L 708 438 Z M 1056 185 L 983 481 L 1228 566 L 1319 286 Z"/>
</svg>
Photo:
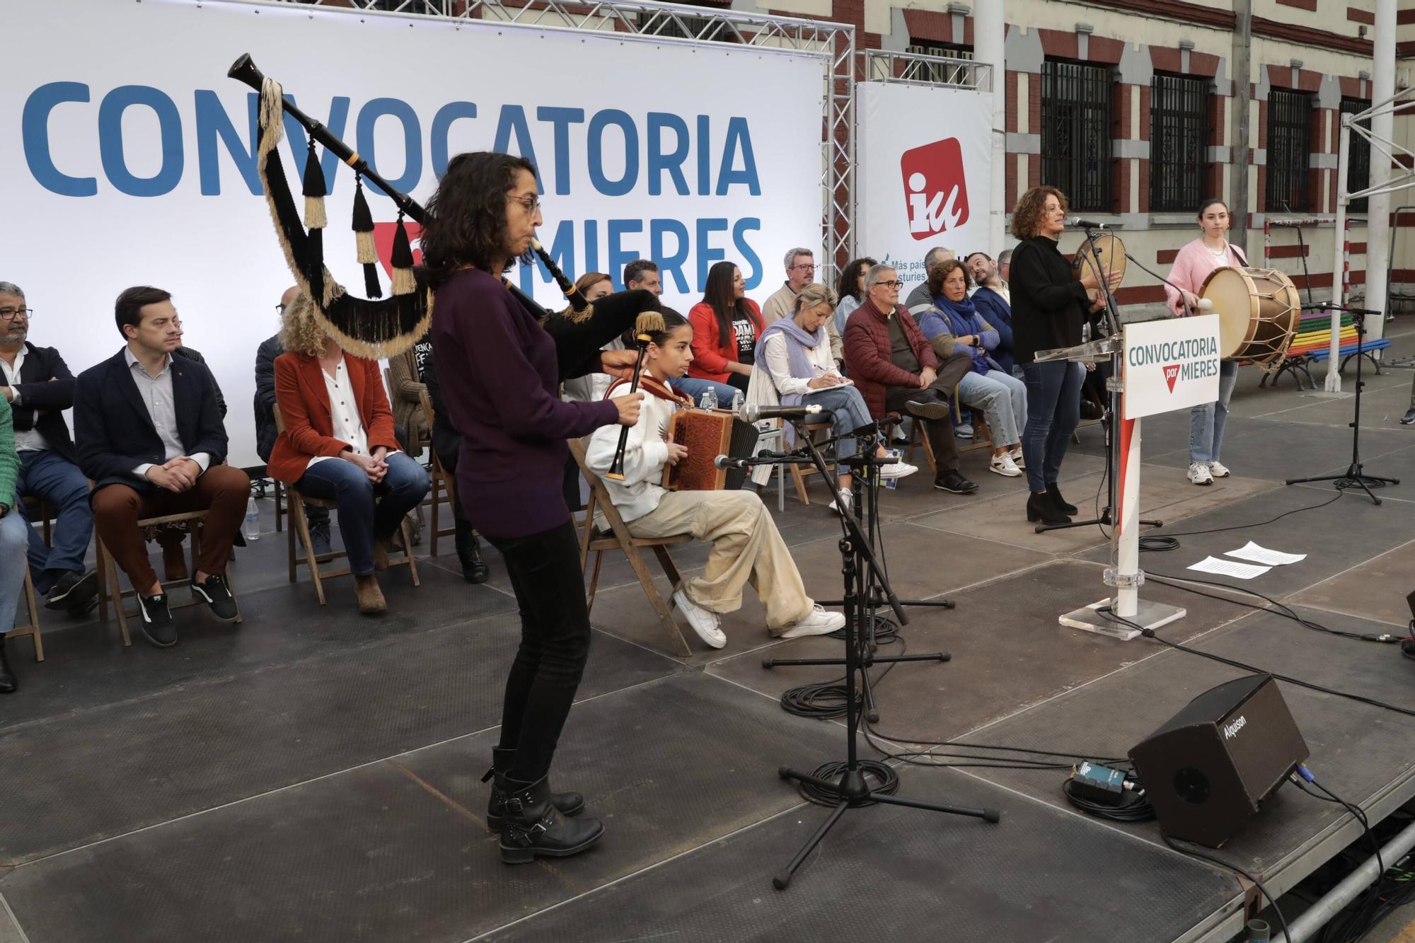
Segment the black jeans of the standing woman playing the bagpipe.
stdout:
<svg viewBox="0 0 1415 943">
<path fill-rule="evenodd" d="M 555 745 L 590 654 L 590 612 L 574 524 L 529 537 L 488 537 L 501 551 L 521 609 L 521 647 L 507 674 L 501 746 L 516 750 L 511 777 L 550 772 Z"/>
</svg>

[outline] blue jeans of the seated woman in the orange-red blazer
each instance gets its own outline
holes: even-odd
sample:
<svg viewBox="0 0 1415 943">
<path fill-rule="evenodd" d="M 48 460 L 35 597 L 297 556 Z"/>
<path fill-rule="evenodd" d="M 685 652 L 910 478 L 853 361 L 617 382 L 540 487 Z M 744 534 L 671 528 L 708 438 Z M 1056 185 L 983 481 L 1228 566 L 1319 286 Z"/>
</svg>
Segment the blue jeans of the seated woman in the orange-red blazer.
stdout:
<svg viewBox="0 0 1415 943">
<path fill-rule="evenodd" d="M 317 462 L 294 483 L 300 494 L 338 504 L 340 534 L 355 576 L 374 572 L 374 541 L 388 541 L 429 486 L 427 471 L 403 452 L 388 456 L 388 474 L 378 484 L 344 459 Z"/>
</svg>

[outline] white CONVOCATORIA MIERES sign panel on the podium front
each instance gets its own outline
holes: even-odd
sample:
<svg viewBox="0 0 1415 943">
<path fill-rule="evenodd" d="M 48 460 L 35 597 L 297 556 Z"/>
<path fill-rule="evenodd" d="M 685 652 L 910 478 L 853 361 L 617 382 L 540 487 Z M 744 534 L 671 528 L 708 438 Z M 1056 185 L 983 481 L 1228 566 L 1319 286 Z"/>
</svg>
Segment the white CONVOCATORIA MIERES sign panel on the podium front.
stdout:
<svg viewBox="0 0 1415 943">
<path fill-rule="evenodd" d="M 1218 399 L 1218 316 L 1125 326 L 1125 418 Z"/>
</svg>

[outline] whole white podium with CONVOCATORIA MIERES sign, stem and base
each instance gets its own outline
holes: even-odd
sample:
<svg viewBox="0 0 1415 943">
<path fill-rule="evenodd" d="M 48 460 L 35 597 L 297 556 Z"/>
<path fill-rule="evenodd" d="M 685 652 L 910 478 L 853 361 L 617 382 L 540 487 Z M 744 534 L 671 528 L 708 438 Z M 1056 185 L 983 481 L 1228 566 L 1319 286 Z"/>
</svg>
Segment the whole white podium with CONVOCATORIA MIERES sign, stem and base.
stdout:
<svg viewBox="0 0 1415 943">
<path fill-rule="evenodd" d="M 1109 358 L 1111 442 L 1108 510 L 1111 565 L 1105 585 L 1112 595 L 1060 616 L 1063 626 L 1129 641 L 1143 629 L 1183 619 L 1184 609 L 1139 598 L 1140 569 L 1140 419 L 1218 399 L 1218 316 L 1170 317 L 1125 324 L 1097 341 L 1039 351 L 1037 360 L 1099 362 Z"/>
</svg>

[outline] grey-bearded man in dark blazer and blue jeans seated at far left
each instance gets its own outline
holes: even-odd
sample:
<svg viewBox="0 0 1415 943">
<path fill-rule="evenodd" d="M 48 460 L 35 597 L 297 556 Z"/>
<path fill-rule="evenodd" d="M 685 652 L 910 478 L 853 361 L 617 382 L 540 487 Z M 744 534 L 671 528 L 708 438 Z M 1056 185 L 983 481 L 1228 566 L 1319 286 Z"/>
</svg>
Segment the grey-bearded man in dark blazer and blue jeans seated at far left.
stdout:
<svg viewBox="0 0 1415 943">
<path fill-rule="evenodd" d="M 18 497 L 35 497 L 55 513 L 54 547 L 28 528 L 30 573 L 45 609 L 82 615 L 98 605 L 98 572 L 83 566 L 93 537 L 88 480 L 79 471 L 64 411 L 74 405 L 74 374 L 59 351 L 30 343 L 31 310 L 24 292 L 0 282 L 0 394 L 10 401 L 20 452 Z M 24 513 L 24 503 L 0 496 Z"/>
</svg>

